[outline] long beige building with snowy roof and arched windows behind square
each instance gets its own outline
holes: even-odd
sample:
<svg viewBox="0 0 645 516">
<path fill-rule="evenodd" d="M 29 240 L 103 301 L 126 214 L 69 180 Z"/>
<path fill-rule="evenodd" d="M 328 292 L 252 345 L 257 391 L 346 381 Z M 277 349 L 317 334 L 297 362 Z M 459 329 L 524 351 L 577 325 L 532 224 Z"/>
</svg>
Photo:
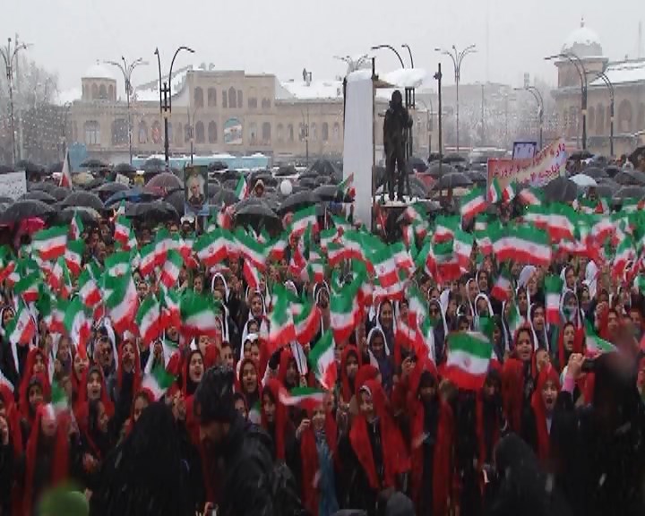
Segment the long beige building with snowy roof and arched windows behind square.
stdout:
<svg viewBox="0 0 645 516">
<path fill-rule="evenodd" d="M 81 97 L 67 116 L 66 141 L 85 145 L 91 157 L 127 161 L 128 108 L 117 97 L 116 79 L 101 64 L 82 77 Z M 215 70 L 212 65 L 173 73 L 168 119 L 171 154 L 249 155 L 261 152 L 274 162 L 339 158 L 343 151 L 343 85 L 340 80 L 280 82 L 270 73 Z M 377 99 L 379 113 L 387 101 Z M 425 120 L 423 109 L 415 114 Z M 133 89 L 130 125 L 134 155 L 163 154 L 164 119 L 159 82 Z M 376 117 L 376 144 L 383 143 L 383 116 Z M 417 124 L 415 142 L 422 154 L 428 126 Z"/>
</svg>

